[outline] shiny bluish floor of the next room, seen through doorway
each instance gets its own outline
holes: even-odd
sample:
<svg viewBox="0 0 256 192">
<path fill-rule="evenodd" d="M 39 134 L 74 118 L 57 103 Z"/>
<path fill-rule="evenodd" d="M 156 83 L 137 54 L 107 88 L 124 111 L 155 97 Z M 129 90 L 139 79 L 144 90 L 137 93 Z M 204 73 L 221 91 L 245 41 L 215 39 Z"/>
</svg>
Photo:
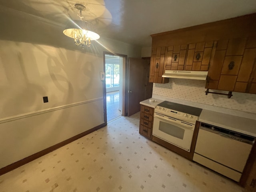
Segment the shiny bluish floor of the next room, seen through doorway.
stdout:
<svg viewBox="0 0 256 192">
<path fill-rule="evenodd" d="M 107 121 L 110 122 L 121 116 L 119 108 L 119 91 L 108 92 L 106 94 L 107 100 Z"/>
</svg>

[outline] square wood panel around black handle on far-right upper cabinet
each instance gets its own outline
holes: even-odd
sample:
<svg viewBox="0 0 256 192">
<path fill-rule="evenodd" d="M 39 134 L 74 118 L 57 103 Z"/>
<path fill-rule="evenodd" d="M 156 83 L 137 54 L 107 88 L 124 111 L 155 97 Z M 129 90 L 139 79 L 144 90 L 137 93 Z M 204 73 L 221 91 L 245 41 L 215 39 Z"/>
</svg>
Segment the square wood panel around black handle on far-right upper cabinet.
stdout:
<svg viewBox="0 0 256 192">
<path fill-rule="evenodd" d="M 242 61 L 242 56 L 226 56 L 222 66 L 222 75 L 237 75 Z M 234 64 L 234 67 L 230 69 L 230 65 Z"/>
</svg>

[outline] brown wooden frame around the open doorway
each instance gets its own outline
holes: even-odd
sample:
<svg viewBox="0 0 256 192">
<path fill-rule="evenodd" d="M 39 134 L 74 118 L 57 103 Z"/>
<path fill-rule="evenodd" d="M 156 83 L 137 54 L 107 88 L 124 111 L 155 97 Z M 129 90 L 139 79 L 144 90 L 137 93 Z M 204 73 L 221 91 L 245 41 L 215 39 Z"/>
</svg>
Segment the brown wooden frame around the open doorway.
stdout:
<svg viewBox="0 0 256 192">
<path fill-rule="evenodd" d="M 105 55 L 113 55 L 120 56 L 123 58 L 123 75 L 122 75 L 122 116 L 127 116 L 128 114 L 128 62 L 127 55 L 112 53 L 112 52 L 103 52 L 103 70 L 104 74 L 106 74 L 106 58 Z M 103 82 L 103 104 L 104 104 L 104 122 L 107 125 L 107 102 L 106 102 L 106 78 L 104 78 Z M 120 90 L 121 91 L 121 90 Z"/>
</svg>

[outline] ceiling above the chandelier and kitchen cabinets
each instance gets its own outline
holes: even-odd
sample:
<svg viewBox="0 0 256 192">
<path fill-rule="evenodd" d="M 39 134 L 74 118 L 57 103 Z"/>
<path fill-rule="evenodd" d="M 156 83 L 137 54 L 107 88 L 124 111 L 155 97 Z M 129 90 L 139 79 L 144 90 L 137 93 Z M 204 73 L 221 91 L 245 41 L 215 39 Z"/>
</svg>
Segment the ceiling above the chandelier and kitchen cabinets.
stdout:
<svg viewBox="0 0 256 192">
<path fill-rule="evenodd" d="M 30 31 L 54 33 L 54 40 L 63 35 L 70 18 L 80 19 L 76 3 L 86 6 L 84 20 L 92 22 L 102 38 L 142 47 L 151 45 L 151 34 L 256 12 L 256 0 L 0 0 L 0 38 L 12 34 L 15 40 L 17 28 L 24 36 Z"/>
</svg>

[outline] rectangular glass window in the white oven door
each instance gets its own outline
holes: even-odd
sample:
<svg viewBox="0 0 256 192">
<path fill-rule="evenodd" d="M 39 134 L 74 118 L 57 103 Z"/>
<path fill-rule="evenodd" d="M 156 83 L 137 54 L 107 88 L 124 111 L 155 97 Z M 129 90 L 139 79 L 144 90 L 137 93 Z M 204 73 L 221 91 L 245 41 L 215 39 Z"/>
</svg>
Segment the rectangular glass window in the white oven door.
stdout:
<svg viewBox="0 0 256 192">
<path fill-rule="evenodd" d="M 159 130 L 179 139 L 183 139 L 185 132 L 185 130 L 180 127 L 162 121 L 159 123 Z"/>
</svg>

